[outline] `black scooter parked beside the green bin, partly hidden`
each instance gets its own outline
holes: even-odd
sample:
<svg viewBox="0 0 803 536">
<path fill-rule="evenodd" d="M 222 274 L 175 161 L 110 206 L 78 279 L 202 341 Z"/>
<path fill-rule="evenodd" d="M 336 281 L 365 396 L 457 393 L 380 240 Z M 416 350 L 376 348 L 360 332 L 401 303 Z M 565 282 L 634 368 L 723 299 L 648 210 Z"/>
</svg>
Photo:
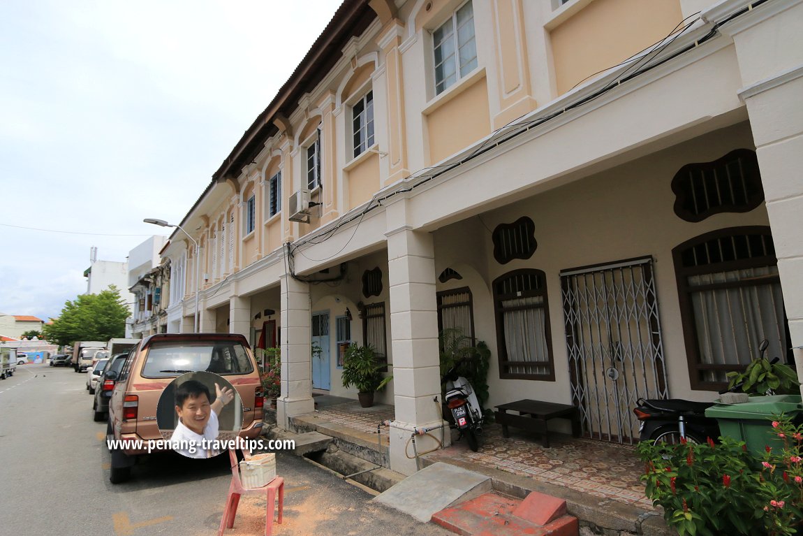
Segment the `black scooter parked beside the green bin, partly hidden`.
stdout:
<svg viewBox="0 0 803 536">
<path fill-rule="evenodd" d="M 764 339 L 759 346 L 760 357 L 764 358 L 769 342 Z M 777 362 L 774 358 L 772 362 Z M 740 391 L 739 383 L 730 389 L 719 391 L 722 395 L 729 391 Z M 681 440 L 704 443 L 719 440 L 719 423 L 705 416 L 712 402 L 693 402 L 683 399 L 638 399 L 633 412 L 641 421 L 639 439 L 654 443 L 678 444 Z"/>
</svg>

